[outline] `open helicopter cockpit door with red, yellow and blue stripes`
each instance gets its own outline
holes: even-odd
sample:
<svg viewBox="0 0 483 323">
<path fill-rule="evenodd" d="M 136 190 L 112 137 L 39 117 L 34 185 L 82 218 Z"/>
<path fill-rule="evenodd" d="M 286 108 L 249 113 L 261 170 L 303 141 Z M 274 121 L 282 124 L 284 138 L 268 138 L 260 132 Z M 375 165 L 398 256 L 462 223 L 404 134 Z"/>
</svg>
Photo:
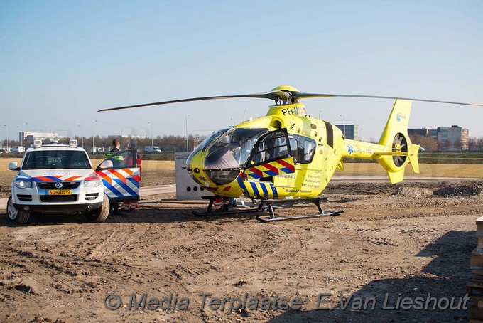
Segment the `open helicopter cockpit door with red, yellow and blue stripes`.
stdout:
<svg viewBox="0 0 483 323">
<path fill-rule="evenodd" d="M 251 151 L 244 174 L 251 179 L 272 181 L 273 176 L 295 172 L 287 129 L 268 132 Z"/>
</svg>

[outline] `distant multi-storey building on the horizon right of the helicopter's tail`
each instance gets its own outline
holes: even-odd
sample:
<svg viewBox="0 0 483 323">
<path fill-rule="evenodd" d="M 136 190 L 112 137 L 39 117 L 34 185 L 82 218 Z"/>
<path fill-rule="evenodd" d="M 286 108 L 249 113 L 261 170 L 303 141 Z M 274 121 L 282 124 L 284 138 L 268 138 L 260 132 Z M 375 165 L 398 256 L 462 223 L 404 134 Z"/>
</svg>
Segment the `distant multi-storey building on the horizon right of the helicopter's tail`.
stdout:
<svg viewBox="0 0 483 323">
<path fill-rule="evenodd" d="M 431 137 L 438 142 L 440 150 L 467 150 L 470 140 L 469 130 L 457 125 L 438 129 L 408 129 L 408 134 L 412 137 Z"/>
</svg>

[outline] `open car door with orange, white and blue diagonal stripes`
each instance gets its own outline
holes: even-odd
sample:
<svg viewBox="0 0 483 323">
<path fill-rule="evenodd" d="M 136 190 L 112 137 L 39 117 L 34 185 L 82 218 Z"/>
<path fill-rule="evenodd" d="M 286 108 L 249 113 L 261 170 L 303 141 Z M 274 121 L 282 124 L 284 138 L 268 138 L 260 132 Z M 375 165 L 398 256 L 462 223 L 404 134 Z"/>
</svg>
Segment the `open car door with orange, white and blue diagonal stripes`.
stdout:
<svg viewBox="0 0 483 323">
<path fill-rule="evenodd" d="M 136 150 L 116 152 L 97 166 L 96 174 L 102 177 L 104 193 L 110 203 L 139 201 L 140 166 Z"/>
</svg>

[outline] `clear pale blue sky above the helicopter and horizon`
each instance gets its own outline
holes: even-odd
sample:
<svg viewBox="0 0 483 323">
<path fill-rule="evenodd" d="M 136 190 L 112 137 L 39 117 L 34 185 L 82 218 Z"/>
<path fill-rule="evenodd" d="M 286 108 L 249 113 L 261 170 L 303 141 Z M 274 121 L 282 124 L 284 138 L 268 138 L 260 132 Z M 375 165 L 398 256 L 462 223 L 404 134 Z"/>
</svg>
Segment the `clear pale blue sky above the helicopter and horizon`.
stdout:
<svg viewBox="0 0 483 323">
<path fill-rule="evenodd" d="M 483 1 L 0 0 L 0 138 L 206 135 L 300 92 L 483 104 Z M 311 98 L 308 114 L 379 138 L 391 100 Z M 414 102 L 409 127 L 483 137 L 483 107 Z"/>
</svg>

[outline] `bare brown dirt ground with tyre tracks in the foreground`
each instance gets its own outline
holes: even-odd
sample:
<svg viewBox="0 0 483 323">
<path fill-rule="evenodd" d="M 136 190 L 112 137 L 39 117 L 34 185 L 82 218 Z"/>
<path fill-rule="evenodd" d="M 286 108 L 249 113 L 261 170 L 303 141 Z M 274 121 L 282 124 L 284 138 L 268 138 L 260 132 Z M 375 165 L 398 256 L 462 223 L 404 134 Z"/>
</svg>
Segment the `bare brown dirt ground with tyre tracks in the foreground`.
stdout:
<svg viewBox="0 0 483 323">
<path fill-rule="evenodd" d="M 324 206 L 345 213 L 273 223 L 193 216 L 204 205 L 170 194 L 105 223 L 0 211 L 1 321 L 467 322 L 481 187 L 332 181 Z"/>
</svg>

